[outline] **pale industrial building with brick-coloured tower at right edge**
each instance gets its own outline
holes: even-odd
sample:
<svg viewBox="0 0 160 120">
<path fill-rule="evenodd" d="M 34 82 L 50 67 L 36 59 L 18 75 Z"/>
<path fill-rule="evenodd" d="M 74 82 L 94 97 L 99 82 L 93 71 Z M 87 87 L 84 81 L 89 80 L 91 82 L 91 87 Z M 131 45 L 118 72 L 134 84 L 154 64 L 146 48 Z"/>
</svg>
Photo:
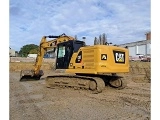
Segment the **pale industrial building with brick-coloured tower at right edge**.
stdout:
<svg viewBox="0 0 160 120">
<path fill-rule="evenodd" d="M 131 43 L 121 44 L 121 47 L 127 47 L 129 49 L 129 56 L 151 55 L 151 32 L 147 32 L 146 40 L 136 41 Z"/>
</svg>

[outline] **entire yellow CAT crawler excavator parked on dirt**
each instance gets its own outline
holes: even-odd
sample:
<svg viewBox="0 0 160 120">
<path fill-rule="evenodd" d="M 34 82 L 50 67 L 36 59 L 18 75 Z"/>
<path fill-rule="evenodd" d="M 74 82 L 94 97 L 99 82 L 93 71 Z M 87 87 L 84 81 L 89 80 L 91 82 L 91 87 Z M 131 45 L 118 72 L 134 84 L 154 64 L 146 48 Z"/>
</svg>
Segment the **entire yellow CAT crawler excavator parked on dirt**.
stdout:
<svg viewBox="0 0 160 120">
<path fill-rule="evenodd" d="M 46 38 L 55 38 L 47 41 Z M 117 73 L 129 72 L 128 49 L 112 45 L 87 46 L 84 41 L 75 40 L 71 36 L 43 36 L 40 50 L 32 70 L 22 70 L 20 81 L 40 79 L 44 74 L 40 70 L 44 53 L 47 48 L 56 48 L 56 70 L 63 69 L 65 73 L 47 76 L 46 87 L 73 87 L 102 92 L 105 85 L 116 89 L 126 86 L 126 81 Z"/>
</svg>

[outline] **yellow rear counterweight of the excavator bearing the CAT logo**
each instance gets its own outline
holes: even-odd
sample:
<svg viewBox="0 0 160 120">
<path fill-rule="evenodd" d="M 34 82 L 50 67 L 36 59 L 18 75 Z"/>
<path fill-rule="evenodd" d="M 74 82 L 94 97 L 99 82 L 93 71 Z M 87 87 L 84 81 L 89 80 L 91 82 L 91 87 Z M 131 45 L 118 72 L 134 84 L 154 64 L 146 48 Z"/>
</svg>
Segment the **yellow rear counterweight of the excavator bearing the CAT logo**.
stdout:
<svg viewBox="0 0 160 120">
<path fill-rule="evenodd" d="M 99 48 L 101 55 L 107 54 L 107 60 L 99 59 L 97 73 L 129 72 L 129 51 L 116 46 Z"/>
</svg>

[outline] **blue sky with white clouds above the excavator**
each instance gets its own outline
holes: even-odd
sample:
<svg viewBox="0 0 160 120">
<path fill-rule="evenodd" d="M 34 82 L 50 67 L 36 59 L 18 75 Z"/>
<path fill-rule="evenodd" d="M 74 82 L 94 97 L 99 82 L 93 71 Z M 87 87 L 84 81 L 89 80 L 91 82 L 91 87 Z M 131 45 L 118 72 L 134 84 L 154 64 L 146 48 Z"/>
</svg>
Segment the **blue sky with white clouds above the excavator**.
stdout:
<svg viewBox="0 0 160 120">
<path fill-rule="evenodd" d="M 107 35 L 108 42 L 123 44 L 145 40 L 151 31 L 150 0 L 10 0 L 9 46 L 19 51 L 26 44 L 39 45 L 42 36 Z"/>
</svg>

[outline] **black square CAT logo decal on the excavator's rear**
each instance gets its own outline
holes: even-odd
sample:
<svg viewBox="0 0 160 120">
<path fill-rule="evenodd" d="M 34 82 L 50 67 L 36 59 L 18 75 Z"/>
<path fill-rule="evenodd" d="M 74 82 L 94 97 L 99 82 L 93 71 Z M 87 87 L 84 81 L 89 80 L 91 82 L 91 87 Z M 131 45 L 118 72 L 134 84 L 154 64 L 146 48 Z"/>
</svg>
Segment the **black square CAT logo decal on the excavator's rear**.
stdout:
<svg viewBox="0 0 160 120">
<path fill-rule="evenodd" d="M 119 51 L 113 51 L 116 63 L 125 63 L 125 53 Z"/>
</svg>

